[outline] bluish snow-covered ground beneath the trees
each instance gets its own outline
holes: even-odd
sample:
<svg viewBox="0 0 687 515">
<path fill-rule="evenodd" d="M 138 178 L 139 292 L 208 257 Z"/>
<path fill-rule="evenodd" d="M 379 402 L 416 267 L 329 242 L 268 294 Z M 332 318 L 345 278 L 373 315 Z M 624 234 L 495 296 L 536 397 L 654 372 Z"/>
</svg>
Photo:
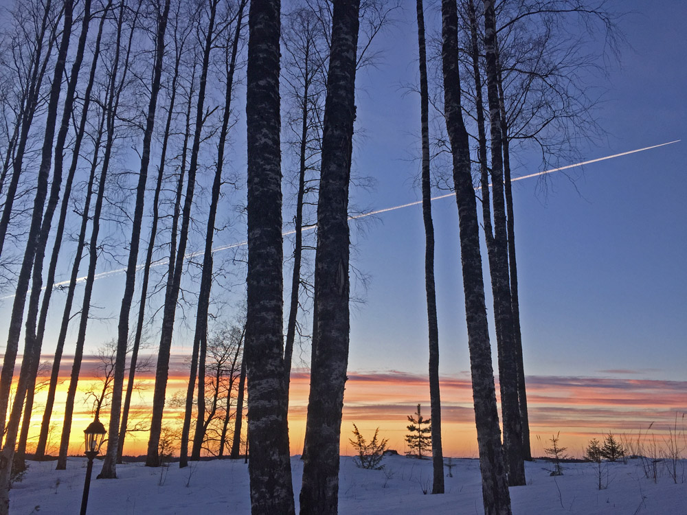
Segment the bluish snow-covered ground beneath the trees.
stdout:
<svg viewBox="0 0 687 515">
<path fill-rule="evenodd" d="M 86 471 L 85 458 L 70 458 L 67 470 L 55 463 L 30 461 L 24 480 L 10 499 L 13 515 L 78 513 Z M 480 473 L 476 459 L 454 459 L 446 494 L 425 495 L 431 462 L 385 457 L 384 470 L 356 468 L 341 457 L 339 513 L 342 515 L 482 514 Z M 657 482 L 646 479 L 639 459 L 603 464 L 605 490 L 598 490 L 596 464 L 565 464 L 563 476 L 551 477 L 550 464 L 526 464 L 528 484 L 511 488 L 516 515 L 687 515 L 687 463 L 678 464 L 678 482 L 660 470 Z M 662 467 L 662 466 L 661 466 Z M 291 459 L 293 485 L 300 489 L 302 461 Z M 142 463 L 117 466 L 120 479 L 96 480 L 93 466 L 89 514 L 232 514 L 248 515 L 248 470 L 243 460 L 193 463 L 179 470 L 146 468 Z M 448 474 L 448 470 L 446 471 Z M 296 510 L 297 512 L 297 510 Z M 266 514 L 267 515 L 267 514 Z"/>
</svg>

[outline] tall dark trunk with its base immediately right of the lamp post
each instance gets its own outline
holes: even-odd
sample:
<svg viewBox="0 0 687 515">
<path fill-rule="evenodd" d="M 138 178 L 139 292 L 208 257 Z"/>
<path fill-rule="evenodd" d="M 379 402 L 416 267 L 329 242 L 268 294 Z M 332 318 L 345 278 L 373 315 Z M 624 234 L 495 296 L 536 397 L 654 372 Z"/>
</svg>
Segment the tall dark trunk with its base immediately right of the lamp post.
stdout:
<svg viewBox="0 0 687 515">
<path fill-rule="evenodd" d="M 165 54 L 165 32 L 170 11 L 170 0 L 165 0 L 164 6 L 157 5 L 157 32 L 155 34 L 155 65 L 153 66 L 153 80 L 150 87 L 150 102 L 143 135 L 143 150 L 141 152 L 141 169 L 136 188 L 136 205 L 134 208 L 133 224 L 128 262 L 126 264 L 126 278 L 124 279 L 124 297 L 120 308 L 120 320 L 117 330 L 117 354 L 113 376 L 112 404 L 110 409 L 110 436 L 107 439 L 107 451 L 98 478 L 116 478 L 117 448 L 119 446 L 120 411 L 122 408 L 122 389 L 124 388 L 124 367 L 126 365 L 126 347 L 128 343 L 128 319 L 133 301 L 138 249 L 141 239 L 141 225 L 143 222 L 143 208 L 146 198 L 146 183 L 148 181 L 148 165 L 150 163 L 150 144 L 155 128 L 155 113 L 157 111 L 157 95 L 160 90 L 162 76 L 162 60 Z"/>
</svg>

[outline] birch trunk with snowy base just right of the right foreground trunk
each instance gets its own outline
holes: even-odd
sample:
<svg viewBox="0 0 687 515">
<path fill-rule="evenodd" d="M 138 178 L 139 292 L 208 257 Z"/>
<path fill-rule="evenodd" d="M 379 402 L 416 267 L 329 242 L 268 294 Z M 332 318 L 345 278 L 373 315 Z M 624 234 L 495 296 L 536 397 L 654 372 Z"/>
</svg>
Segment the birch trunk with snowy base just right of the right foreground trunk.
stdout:
<svg viewBox="0 0 687 515">
<path fill-rule="evenodd" d="M 484 0 L 484 47 L 486 51 L 487 97 L 491 129 L 491 183 L 494 206 L 494 266 L 491 280 L 494 291 L 494 314 L 499 343 L 499 385 L 504 422 L 504 455 L 508 484 L 524 485 L 525 464 L 522 452 L 522 428 L 517 387 L 517 353 L 513 332 L 513 310 L 510 306 L 508 274 L 508 229 L 504 202 L 503 138 L 501 106 L 496 62 L 496 18 L 493 0 Z"/>
</svg>

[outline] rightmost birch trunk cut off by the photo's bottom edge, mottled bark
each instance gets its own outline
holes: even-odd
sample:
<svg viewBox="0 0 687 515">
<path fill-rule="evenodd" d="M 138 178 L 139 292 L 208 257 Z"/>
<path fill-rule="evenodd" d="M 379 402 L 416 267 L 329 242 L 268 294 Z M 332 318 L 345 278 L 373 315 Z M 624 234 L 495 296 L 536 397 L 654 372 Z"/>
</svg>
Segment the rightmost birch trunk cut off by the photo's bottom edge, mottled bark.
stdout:
<svg viewBox="0 0 687 515">
<path fill-rule="evenodd" d="M 458 204 L 460 260 L 465 316 L 486 515 L 510 515 L 510 494 L 501 446 L 491 345 L 484 301 L 480 227 L 473 189 L 470 146 L 462 117 L 458 67 L 458 11 L 455 0 L 442 0 L 442 72 L 444 115 L 453 157 L 453 185 Z"/>
</svg>

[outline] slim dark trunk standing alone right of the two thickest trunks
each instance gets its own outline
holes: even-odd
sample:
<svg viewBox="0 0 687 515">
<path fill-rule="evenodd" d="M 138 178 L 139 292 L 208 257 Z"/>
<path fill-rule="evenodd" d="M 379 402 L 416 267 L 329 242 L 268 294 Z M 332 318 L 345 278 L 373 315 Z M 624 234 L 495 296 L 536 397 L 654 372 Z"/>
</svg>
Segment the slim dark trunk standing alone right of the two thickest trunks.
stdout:
<svg viewBox="0 0 687 515">
<path fill-rule="evenodd" d="M 434 225 L 431 219 L 431 173 L 429 169 L 429 87 L 427 86 L 427 47 L 425 45 L 425 12 L 423 0 L 417 0 L 418 49 L 420 54 L 420 124 L 423 140 L 423 221 L 425 222 L 425 290 L 427 292 L 427 325 L 429 332 L 429 402 L 433 494 L 444 493 L 444 455 L 441 446 L 441 397 L 439 392 L 439 325 L 436 315 L 434 286 Z M 420 411 L 418 406 L 418 412 Z"/>
</svg>

